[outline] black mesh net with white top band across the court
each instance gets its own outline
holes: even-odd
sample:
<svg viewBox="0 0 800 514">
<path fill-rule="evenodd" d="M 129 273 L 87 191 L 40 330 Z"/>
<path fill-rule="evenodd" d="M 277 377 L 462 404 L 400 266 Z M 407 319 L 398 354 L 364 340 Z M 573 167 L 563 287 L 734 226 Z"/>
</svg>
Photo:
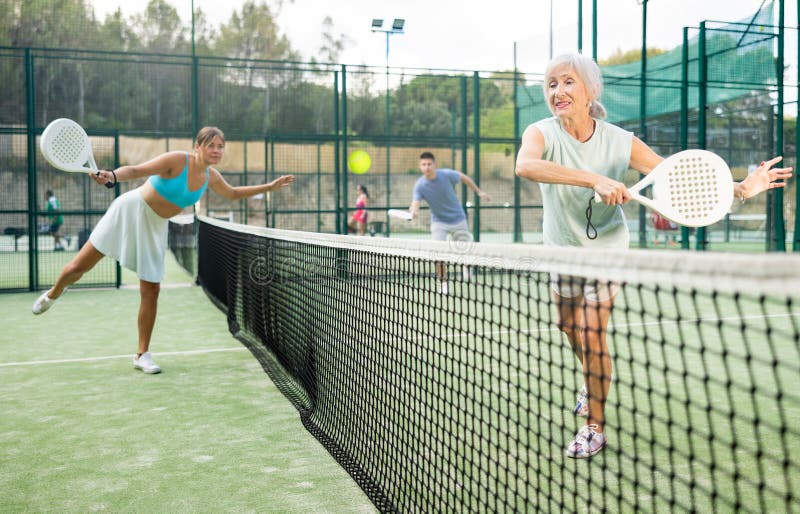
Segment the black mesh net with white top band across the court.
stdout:
<svg viewBox="0 0 800 514">
<path fill-rule="evenodd" d="M 791 255 L 198 226 L 198 282 L 231 333 L 384 512 L 796 510 L 798 270 Z M 565 455 L 584 374 L 556 276 L 562 292 L 620 284 L 608 444 L 590 459 Z"/>
</svg>

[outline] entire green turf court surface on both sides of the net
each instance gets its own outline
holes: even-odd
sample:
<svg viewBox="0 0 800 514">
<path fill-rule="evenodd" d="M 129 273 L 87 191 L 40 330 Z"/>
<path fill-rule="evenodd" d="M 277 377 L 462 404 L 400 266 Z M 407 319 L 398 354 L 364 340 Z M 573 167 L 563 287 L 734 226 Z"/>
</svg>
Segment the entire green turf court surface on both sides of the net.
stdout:
<svg viewBox="0 0 800 514">
<path fill-rule="evenodd" d="M 375 511 L 190 280 L 170 255 L 153 338 L 164 373 L 155 376 L 131 366 L 138 306 L 132 273 L 124 272 L 128 285 L 121 290 L 69 291 L 41 317 L 30 313 L 36 294 L 0 295 L 0 511 Z M 484 281 L 494 287 L 475 287 Z M 412 446 L 455 415 L 499 416 L 493 430 L 509 435 L 492 443 L 492 458 L 459 444 L 469 435 L 455 432 L 436 432 L 437 440 L 455 443 L 438 450 L 398 452 L 393 466 L 400 471 L 391 479 L 403 497 L 431 494 L 441 501 L 437 510 L 446 511 L 482 494 L 479 473 L 493 462 L 531 473 L 503 475 L 495 498 L 519 494 L 544 510 L 580 510 L 589 499 L 610 511 L 725 510 L 732 499 L 745 510 L 781 510 L 796 490 L 796 466 L 781 465 L 793 451 L 787 434 L 796 431 L 780 428 L 800 416 L 792 376 L 796 304 L 625 289 L 609 334 L 609 447 L 586 462 L 563 457 L 582 424 L 568 410 L 580 375 L 553 324 L 546 280 L 478 275 L 471 285 L 455 284 L 455 296 L 403 301 L 402 319 L 411 316 L 416 327 L 389 323 L 400 316 L 400 300 L 386 305 L 387 295 L 400 286 L 378 280 L 362 291 L 372 301 L 331 312 L 329 321 L 349 327 L 358 344 L 340 344 L 340 332 L 318 334 L 322 342 L 333 338 L 332 366 L 363 362 L 364 355 L 402 356 L 384 382 L 358 371 L 364 380 L 340 383 L 348 387 L 343 412 L 364 433 L 394 425 Z M 417 286 L 428 291 L 436 284 Z M 375 320 L 388 331 L 375 334 Z M 427 334 L 422 326 L 437 328 Z M 409 330 L 418 337 L 405 337 Z M 409 370 L 424 371 L 409 377 Z M 339 371 L 346 373 L 325 373 Z M 493 385 L 475 392 L 474 383 Z M 459 407 L 429 396 L 442 387 L 470 401 Z M 415 407 L 422 413 L 382 418 L 347 410 L 381 398 L 390 404 L 398 394 L 430 403 Z M 324 411 L 341 405 L 318 408 L 317 416 L 335 419 L 339 413 Z M 731 454 L 734 441 L 741 446 Z M 461 475 L 472 478 L 445 478 Z M 435 490 L 414 489 L 420 476 L 434 477 Z M 780 478 L 761 489 L 770 477 Z M 603 487 L 587 493 L 593 481 Z"/>
</svg>

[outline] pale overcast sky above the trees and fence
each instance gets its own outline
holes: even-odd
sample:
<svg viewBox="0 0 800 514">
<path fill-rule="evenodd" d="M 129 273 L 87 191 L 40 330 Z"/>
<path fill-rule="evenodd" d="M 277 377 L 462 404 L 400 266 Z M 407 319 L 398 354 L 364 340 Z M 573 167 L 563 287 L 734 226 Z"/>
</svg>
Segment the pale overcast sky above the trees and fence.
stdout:
<svg viewBox="0 0 800 514">
<path fill-rule="evenodd" d="M 168 0 L 182 19 L 190 20 L 191 0 Z M 141 12 L 147 0 L 89 0 L 102 19 L 122 8 Z M 226 21 L 243 0 L 195 0 L 212 20 Z M 598 0 L 598 56 L 617 48 L 641 47 L 642 7 L 637 0 Z M 648 46 L 672 48 L 680 44 L 682 27 L 702 20 L 734 21 L 754 13 L 761 0 L 649 0 Z M 796 25 L 794 2 L 786 2 L 787 25 Z M 222 5 L 220 5 L 222 4 Z M 479 5 L 480 7 L 476 6 Z M 577 45 L 577 0 L 555 0 L 554 52 Z M 592 0 L 583 0 L 584 53 L 591 54 Z M 278 23 L 304 58 L 321 44 L 322 20 L 331 16 L 337 33 L 350 44 L 341 61 L 384 66 L 386 38 L 370 31 L 372 18 L 404 18 L 405 33 L 390 37 L 389 65 L 406 68 L 508 70 L 519 42 L 518 67 L 539 72 L 549 54 L 550 0 L 289 0 Z M 793 36 L 794 37 L 794 36 Z M 795 44 L 796 47 L 796 44 Z M 791 48 L 791 46 L 790 46 Z"/>
</svg>

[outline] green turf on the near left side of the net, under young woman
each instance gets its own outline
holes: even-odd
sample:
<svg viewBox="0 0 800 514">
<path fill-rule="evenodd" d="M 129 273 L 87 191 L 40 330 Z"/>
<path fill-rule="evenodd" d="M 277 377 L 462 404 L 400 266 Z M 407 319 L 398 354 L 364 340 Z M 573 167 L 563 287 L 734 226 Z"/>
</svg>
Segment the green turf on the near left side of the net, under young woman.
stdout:
<svg viewBox="0 0 800 514">
<path fill-rule="evenodd" d="M 40 317 L 36 294 L 0 295 L 0 511 L 374 512 L 169 268 L 159 375 L 131 365 L 135 288 L 69 291 Z"/>
</svg>

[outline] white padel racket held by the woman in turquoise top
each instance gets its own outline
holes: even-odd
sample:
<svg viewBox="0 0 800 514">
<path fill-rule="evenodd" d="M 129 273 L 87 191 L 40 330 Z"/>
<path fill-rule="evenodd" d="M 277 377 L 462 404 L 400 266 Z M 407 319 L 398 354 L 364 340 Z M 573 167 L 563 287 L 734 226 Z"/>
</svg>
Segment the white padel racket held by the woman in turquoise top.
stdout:
<svg viewBox="0 0 800 514">
<path fill-rule="evenodd" d="M 42 155 L 54 168 L 70 173 L 100 174 L 92 155 L 92 145 L 83 127 L 67 118 L 53 120 L 42 132 Z M 89 164 L 86 167 L 85 164 Z M 114 187 L 106 182 L 106 187 Z"/>
</svg>

